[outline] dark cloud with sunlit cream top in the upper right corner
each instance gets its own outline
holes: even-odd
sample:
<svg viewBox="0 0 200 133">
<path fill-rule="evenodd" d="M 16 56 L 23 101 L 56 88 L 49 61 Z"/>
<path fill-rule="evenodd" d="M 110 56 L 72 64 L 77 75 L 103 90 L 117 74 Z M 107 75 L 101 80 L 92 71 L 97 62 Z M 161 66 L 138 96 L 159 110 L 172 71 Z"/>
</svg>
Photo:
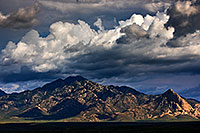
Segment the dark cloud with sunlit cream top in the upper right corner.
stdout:
<svg viewBox="0 0 200 133">
<path fill-rule="evenodd" d="M 177 1 L 168 10 L 170 19 L 167 26 L 176 29 L 175 36 L 180 37 L 200 30 L 200 1 Z"/>
</svg>

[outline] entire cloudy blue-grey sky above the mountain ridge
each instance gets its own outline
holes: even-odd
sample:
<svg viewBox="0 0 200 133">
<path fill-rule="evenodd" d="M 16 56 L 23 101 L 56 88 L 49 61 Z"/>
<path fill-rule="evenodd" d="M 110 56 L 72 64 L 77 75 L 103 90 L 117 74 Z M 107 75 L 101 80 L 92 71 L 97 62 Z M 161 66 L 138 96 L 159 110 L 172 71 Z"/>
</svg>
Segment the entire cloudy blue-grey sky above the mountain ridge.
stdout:
<svg viewBox="0 0 200 133">
<path fill-rule="evenodd" d="M 82 75 L 200 100 L 200 0 L 0 0 L 0 89 Z"/>
</svg>

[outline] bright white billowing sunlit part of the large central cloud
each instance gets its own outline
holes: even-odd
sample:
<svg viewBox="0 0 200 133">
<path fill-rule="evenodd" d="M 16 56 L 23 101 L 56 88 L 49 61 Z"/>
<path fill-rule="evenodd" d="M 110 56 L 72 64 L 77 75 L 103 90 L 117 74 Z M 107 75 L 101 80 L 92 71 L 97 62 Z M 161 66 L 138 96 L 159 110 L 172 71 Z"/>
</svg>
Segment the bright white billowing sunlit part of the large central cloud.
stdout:
<svg viewBox="0 0 200 133">
<path fill-rule="evenodd" d="M 166 14 L 158 13 L 153 18 L 154 21 L 149 23 L 148 28 L 144 23 L 148 19 L 134 14 L 129 20 L 120 21 L 120 26 L 115 29 L 101 29 L 102 31 L 99 33 L 91 29 L 84 21 L 79 20 L 76 25 L 68 22 L 56 22 L 50 26 L 50 34 L 46 38 L 40 37 L 37 31 L 32 30 L 17 45 L 9 42 L 2 50 L 1 59 L 4 64 L 15 62 L 28 66 L 36 72 L 60 70 L 64 64 L 68 64 L 70 58 L 92 53 L 97 49 L 102 49 L 102 52 L 112 49 L 117 45 L 116 40 L 125 35 L 120 31 L 126 26 L 138 25 L 141 28 L 147 26 L 146 30 L 150 38 L 160 36 L 160 38 L 170 39 L 173 28 L 165 29 L 166 18 L 168 19 Z M 99 22 L 98 19 L 95 24 Z M 160 32 L 157 28 L 160 29 Z"/>
</svg>

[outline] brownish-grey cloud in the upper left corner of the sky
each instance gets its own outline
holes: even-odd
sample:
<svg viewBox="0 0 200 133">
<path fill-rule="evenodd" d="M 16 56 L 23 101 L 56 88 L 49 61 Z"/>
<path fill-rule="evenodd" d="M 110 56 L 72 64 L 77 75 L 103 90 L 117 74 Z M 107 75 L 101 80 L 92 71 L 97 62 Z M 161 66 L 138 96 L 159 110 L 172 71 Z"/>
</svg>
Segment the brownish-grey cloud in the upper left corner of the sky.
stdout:
<svg viewBox="0 0 200 133">
<path fill-rule="evenodd" d="M 8 15 L 0 12 L 0 28 L 24 29 L 38 25 L 39 21 L 36 19 L 36 15 L 39 10 L 39 4 L 34 3 L 30 7 L 20 8 Z"/>
</svg>

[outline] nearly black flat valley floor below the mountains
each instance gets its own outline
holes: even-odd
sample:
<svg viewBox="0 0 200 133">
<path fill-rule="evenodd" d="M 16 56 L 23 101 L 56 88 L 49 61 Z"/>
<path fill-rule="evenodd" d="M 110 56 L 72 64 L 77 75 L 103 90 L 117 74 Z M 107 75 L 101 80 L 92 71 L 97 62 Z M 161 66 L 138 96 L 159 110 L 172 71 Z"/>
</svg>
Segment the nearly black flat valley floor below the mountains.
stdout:
<svg viewBox="0 0 200 133">
<path fill-rule="evenodd" d="M 48 122 L 48 123 L 4 123 L 0 132 L 134 132 L 177 133 L 200 132 L 200 121 L 193 122 Z"/>
</svg>

